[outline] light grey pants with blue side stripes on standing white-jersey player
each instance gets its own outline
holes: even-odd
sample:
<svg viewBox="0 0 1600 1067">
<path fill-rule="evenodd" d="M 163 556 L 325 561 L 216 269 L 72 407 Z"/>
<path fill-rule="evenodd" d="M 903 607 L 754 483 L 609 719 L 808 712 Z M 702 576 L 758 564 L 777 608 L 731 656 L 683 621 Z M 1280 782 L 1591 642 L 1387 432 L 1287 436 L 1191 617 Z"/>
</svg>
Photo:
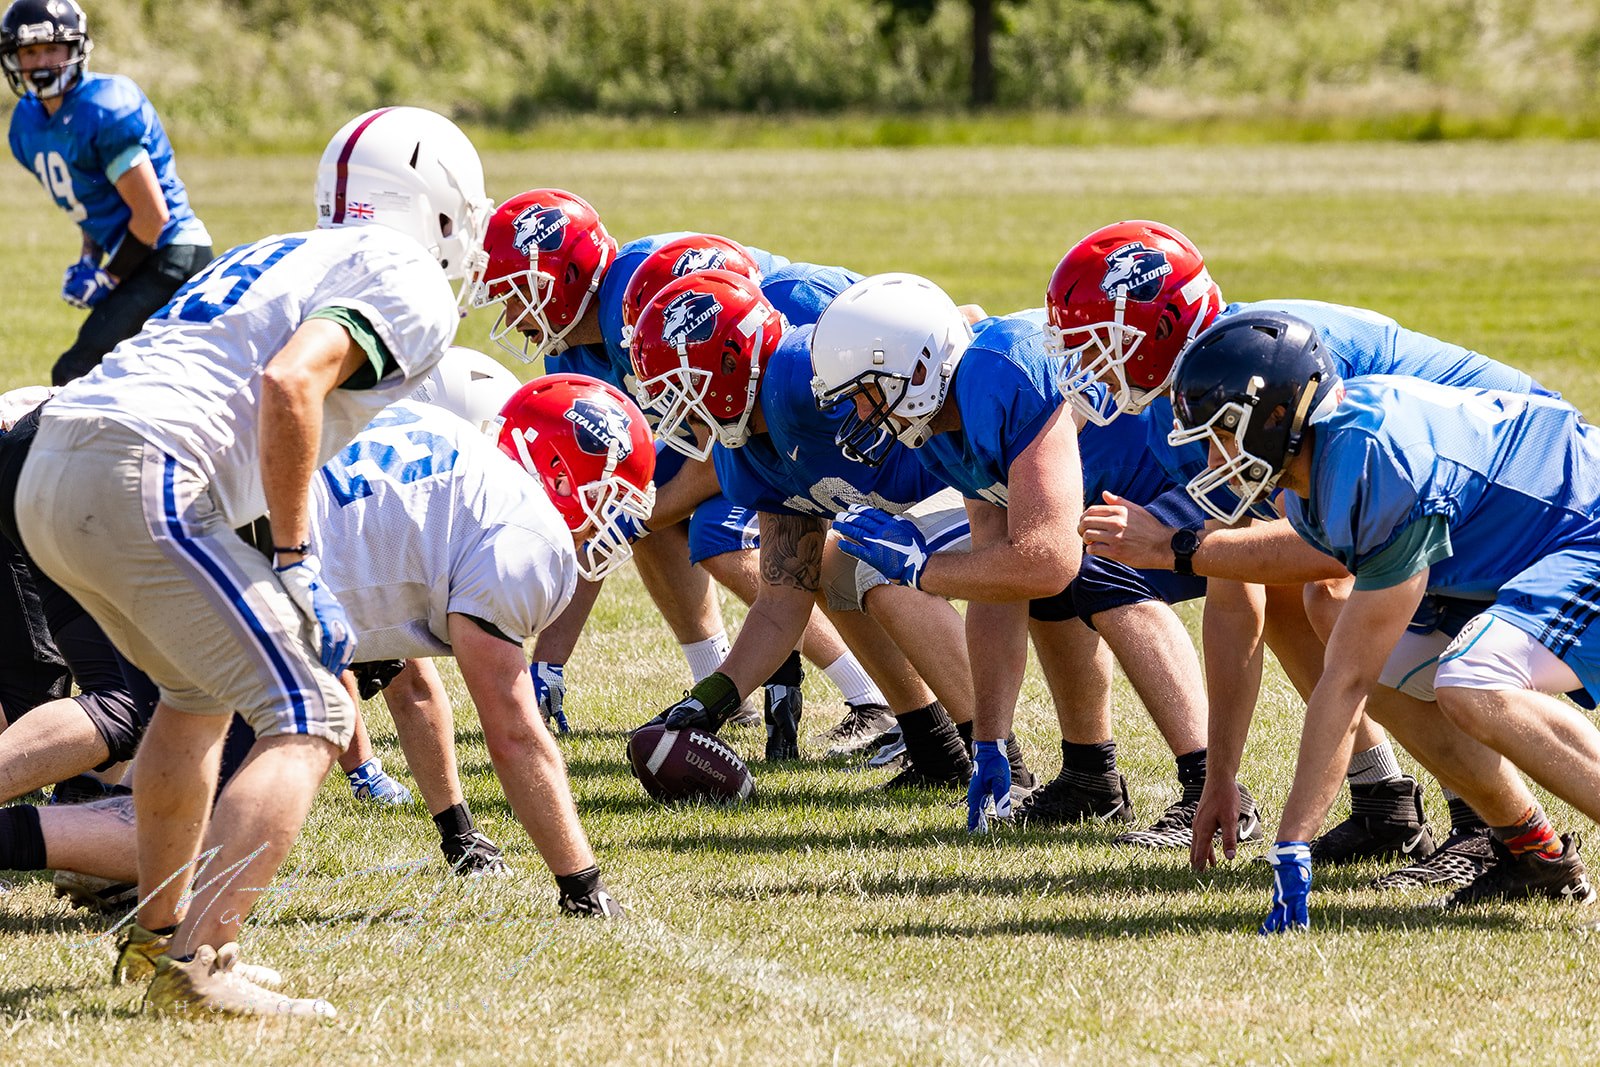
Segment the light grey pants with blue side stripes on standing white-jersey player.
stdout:
<svg viewBox="0 0 1600 1067">
<path fill-rule="evenodd" d="M 355 704 L 318 662 L 272 565 L 240 541 L 206 480 L 110 419 L 40 421 L 16 491 L 34 561 L 118 651 L 197 715 L 238 712 L 258 737 L 344 747 Z"/>
</svg>

